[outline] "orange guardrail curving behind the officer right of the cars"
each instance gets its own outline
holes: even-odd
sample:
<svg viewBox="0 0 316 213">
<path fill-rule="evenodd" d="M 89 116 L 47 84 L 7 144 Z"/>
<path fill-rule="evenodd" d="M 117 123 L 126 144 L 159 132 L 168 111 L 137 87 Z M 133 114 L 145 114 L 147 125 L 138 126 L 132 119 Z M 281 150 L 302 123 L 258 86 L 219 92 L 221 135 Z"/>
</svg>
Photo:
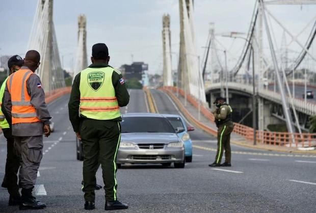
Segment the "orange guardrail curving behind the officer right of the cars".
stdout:
<svg viewBox="0 0 316 213">
<path fill-rule="evenodd" d="M 179 101 L 179 99 L 173 94 L 172 92 L 179 92 L 179 94 L 183 97 L 185 97 L 185 92 L 181 89 L 177 89 L 176 87 L 162 87 L 162 90 L 166 91 L 172 99 L 175 101 L 175 103 L 180 108 L 181 112 L 183 112 L 186 116 L 190 118 L 190 120 L 193 120 L 195 124 L 197 124 L 199 127 L 201 127 L 203 130 L 208 132 L 212 135 L 217 135 L 217 130 L 213 129 L 209 126 L 206 126 L 205 124 L 199 122 L 196 118 L 194 118 L 190 112 L 183 106 L 183 104 Z M 198 108 L 198 100 L 196 100 L 193 96 L 190 94 L 187 94 L 187 100 L 195 107 Z M 214 115 L 210 110 L 204 105 L 201 105 L 201 113 L 202 115 L 209 120 L 209 122 L 214 123 Z M 233 132 L 235 132 L 238 135 L 241 135 L 245 137 L 246 140 L 253 141 L 253 128 L 249 126 L 245 126 L 239 123 L 234 123 L 234 129 Z M 316 146 L 316 133 L 295 133 L 291 134 L 289 132 L 275 132 L 275 131 L 256 131 L 256 142 L 267 144 L 267 145 L 275 145 L 275 146 L 287 146 L 287 147 L 311 147 Z M 295 143 L 292 143 L 292 139 L 294 137 Z"/>
</svg>

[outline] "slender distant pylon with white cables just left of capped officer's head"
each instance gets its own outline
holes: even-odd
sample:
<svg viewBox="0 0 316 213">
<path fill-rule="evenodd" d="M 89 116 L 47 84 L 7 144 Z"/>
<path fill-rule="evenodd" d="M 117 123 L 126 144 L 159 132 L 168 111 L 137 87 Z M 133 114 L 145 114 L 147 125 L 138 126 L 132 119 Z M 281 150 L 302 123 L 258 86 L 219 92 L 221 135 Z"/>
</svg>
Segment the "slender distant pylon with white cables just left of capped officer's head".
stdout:
<svg viewBox="0 0 316 213">
<path fill-rule="evenodd" d="M 73 76 L 88 66 L 87 58 L 87 18 L 85 15 L 78 16 L 78 45 L 73 70 Z"/>
</svg>

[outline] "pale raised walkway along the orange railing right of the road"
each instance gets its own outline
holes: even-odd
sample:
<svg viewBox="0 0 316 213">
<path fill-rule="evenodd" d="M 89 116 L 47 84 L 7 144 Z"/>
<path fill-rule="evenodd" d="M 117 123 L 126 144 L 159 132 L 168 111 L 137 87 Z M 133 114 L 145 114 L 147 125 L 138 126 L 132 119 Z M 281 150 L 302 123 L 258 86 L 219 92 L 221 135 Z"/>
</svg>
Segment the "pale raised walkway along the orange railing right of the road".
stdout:
<svg viewBox="0 0 316 213">
<path fill-rule="evenodd" d="M 199 123 L 204 126 L 207 126 L 209 130 L 204 129 L 204 128 L 202 128 L 202 130 L 206 131 L 208 134 L 212 134 L 216 136 L 217 127 L 214 121 L 210 120 L 210 118 L 205 117 L 203 113 L 200 113 L 200 116 L 199 116 L 199 113 L 198 113 L 199 111 L 195 105 L 190 103 L 190 101 L 185 101 L 185 97 L 183 97 L 180 93 L 177 96 L 177 93 L 172 90 L 162 89 L 162 91 L 164 91 L 174 101 L 174 103 L 177 105 L 179 110 L 183 113 L 184 116 L 186 116 L 186 118 L 190 122 L 192 122 L 192 124 L 198 127 L 199 127 Z M 179 104 L 181 104 L 182 107 Z M 187 110 L 187 113 L 183 112 L 183 108 Z M 206 106 L 205 108 L 209 111 L 212 111 L 213 109 L 213 108 L 208 109 L 208 106 Z M 195 120 L 193 120 L 192 118 L 195 118 Z M 257 142 L 257 145 L 253 145 L 253 140 L 248 140 L 245 137 L 239 134 L 236 134 L 235 132 L 232 132 L 231 134 L 231 143 L 235 145 L 248 147 L 248 148 L 264 149 L 264 150 L 269 150 L 269 151 L 292 152 L 292 153 L 301 153 L 301 154 L 302 153 L 303 154 L 316 154 L 316 150 L 299 150 L 299 149 L 296 149 L 295 147 L 268 145 L 268 144 L 262 144 L 258 142 Z"/>
</svg>

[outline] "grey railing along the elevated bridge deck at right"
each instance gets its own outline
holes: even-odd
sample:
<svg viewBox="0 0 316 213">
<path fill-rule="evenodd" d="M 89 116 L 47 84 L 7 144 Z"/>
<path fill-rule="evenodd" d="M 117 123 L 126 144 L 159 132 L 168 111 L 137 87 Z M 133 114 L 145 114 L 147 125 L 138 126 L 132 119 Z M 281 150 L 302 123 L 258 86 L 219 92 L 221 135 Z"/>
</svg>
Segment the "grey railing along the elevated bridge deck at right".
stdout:
<svg viewBox="0 0 316 213">
<path fill-rule="evenodd" d="M 220 89 L 220 88 L 221 88 L 220 83 L 214 83 L 214 84 L 208 86 L 205 89 L 205 91 L 212 90 L 212 89 Z M 247 85 L 247 84 L 228 82 L 228 88 L 252 94 L 252 86 Z M 257 91 L 257 93 L 262 98 L 265 98 L 265 99 L 271 100 L 273 102 L 282 104 L 280 93 L 277 93 L 277 92 L 274 92 L 271 90 L 266 90 L 266 89 L 261 89 L 261 90 Z M 287 97 L 287 101 L 289 103 L 291 103 L 291 100 L 289 99 L 289 97 Z M 305 102 L 304 100 L 301 100 L 299 98 L 294 98 L 293 102 L 294 102 L 295 109 L 297 111 L 305 113 L 307 115 L 315 115 L 316 114 L 316 104 L 315 103 Z M 291 107 L 291 104 L 289 104 L 289 105 Z"/>
</svg>

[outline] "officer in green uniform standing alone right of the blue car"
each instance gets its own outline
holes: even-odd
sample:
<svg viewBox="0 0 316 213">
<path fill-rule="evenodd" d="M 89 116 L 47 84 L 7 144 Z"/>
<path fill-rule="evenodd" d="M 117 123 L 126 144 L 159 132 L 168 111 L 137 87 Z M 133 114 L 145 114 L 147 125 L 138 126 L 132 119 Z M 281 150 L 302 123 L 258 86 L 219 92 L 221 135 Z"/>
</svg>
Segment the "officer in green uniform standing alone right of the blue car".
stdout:
<svg viewBox="0 0 316 213">
<path fill-rule="evenodd" d="M 231 120 L 232 109 L 225 102 L 223 97 L 217 97 L 214 104 L 217 109 L 214 111 L 215 123 L 217 130 L 217 153 L 215 162 L 210 167 L 230 167 L 231 151 L 230 151 L 230 134 L 233 130 L 233 122 Z M 225 162 L 221 164 L 223 151 L 225 149 Z"/>
</svg>

